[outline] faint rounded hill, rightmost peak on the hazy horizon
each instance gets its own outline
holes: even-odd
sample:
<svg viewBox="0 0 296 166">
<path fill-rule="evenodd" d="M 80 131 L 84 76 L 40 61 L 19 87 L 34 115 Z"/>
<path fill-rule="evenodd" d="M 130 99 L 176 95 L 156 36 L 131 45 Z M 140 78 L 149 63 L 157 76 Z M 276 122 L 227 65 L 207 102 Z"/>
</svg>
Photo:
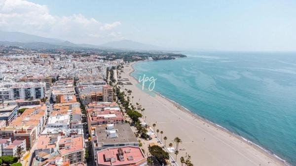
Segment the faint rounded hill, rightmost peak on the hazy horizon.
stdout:
<svg viewBox="0 0 296 166">
<path fill-rule="evenodd" d="M 120 48 L 120 49 L 136 49 L 136 50 L 160 50 L 158 46 L 143 44 L 132 40 L 111 41 L 101 44 L 102 47 Z"/>
</svg>

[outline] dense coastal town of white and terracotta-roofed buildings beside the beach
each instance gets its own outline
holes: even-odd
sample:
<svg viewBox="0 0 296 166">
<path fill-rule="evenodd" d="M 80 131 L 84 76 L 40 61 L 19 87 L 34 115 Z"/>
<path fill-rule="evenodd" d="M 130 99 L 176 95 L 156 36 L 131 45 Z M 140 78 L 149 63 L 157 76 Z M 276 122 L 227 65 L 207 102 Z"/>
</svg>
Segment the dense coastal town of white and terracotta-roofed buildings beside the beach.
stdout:
<svg viewBox="0 0 296 166">
<path fill-rule="evenodd" d="M 0 165 L 193 166 L 124 76 L 132 61 L 181 57 L 0 46 Z"/>
</svg>

